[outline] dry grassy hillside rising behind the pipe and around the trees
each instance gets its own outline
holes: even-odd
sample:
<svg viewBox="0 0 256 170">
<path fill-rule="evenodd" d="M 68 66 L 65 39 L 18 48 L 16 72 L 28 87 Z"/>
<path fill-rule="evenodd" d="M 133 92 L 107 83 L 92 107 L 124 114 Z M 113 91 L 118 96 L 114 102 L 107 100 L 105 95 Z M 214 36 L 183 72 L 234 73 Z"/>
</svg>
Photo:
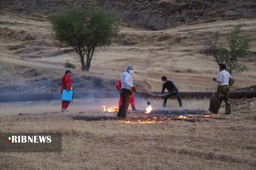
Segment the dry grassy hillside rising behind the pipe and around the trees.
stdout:
<svg viewBox="0 0 256 170">
<path fill-rule="evenodd" d="M 76 2 L 78 3 L 78 1 L 65 0 L 62 6 L 74 6 Z M 121 9 L 118 5 L 114 6 L 114 2 L 100 2 L 106 7 Z M 142 1 L 136 1 L 136 3 L 133 1 L 117 2 L 120 2 L 119 5 L 126 4 L 126 6 L 142 3 Z M 146 2 L 152 3 L 150 6 L 181 3 L 167 0 Z M 194 3 L 199 2 L 194 1 Z M 224 1 L 218 3 L 222 2 L 224 3 Z M 225 1 L 225 3 L 235 2 Z M 250 17 L 249 13 L 254 14 L 251 9 L 254 4 L 249 1 L 244 1 L 244 3 L 247 4 L 248 15 L 246 12 L 241 13 Z M 135 28 L 138 25 L 132 26 L 131 20 L 126 20 L 114 46 L 97 51 L 92 59 L 90 72 L 82 72 L 79 62 L 70 56 L 74 51 L 58 49 L 58 43 L 54 42 L 52 38 L 47 17 L 60 9 L 57 8 L 58 5 L 60 5 L 59 1 L 42 2 L 40 5 L 33 0 L 12 0 L 0 3 L 1 7 L 5 7 L 0 13 L 0 71 L 3 73 L 0 78 L 0 88 L 5 90 L 0 93 L 56 92 L 60 89 L 60 80 L 66 70 L 64 68 L 66 61 L 76 65 L 76 69 L 72 70 L 74 72 L 73 85 L 76 88 L 83 88 L 85 91 L 115 90 L 116 81 L 129 64 L 133 64 L 135 67 L 133 79 L 138 90 L 160 91 L 160 77 L 167 76 L 174 80 L 180 91 L 211 91 L 213 69 L 218 72 L 218 66 L 213 58 L 204 55 L 204 46 L 212 41 L 212 34 L 215 31 L 226 35 L 234 25 L 241 22 L 245 23 L 242 28 L 244 35 L 252 37 L 250 51 L 254 53 L 246 62 L 250 71 L 234 74 L 236 82 L 232 89 L 256 84 L 255 18 L 237 20 L 233 18 L 225 21 L 215 18 L 211 22 L 194 20 L 197 22 L 183 25 L 177 23 L 176 27 L 160 31 L 146 31 L 147 26 L 138 29 Z M 184 6 L 186 5 L 184 4 Z M 138 5 L 139 7 L 140 5 Z M 167 7 L 164 6 L 164 8 Z M 28 12 L 29 10 L 30 12 Z M 143 15 L 138 14 L 138 16 L 142 17 Z M 168 23 L 167 20 L 166 23 Z M 155 25 L 161 24 L 155 22 Z"/>
</svg>

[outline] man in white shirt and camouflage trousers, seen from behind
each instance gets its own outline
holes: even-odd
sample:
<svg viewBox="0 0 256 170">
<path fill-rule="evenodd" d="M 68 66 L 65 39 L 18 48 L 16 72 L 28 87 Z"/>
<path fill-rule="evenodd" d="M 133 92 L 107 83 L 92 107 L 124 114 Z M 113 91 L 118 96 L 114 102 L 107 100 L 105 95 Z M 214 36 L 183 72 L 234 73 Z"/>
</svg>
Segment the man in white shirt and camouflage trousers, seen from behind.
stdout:
<svg viewBox="0 0 256 170">
<path fill-rule="evenodd" d="M 218 74 L 218 78 L 212 78 L 212 80 L 218 82 L 218 110 L 220 109 L 222 100 L 224 100 L 226 104 L 225 115 L 231 114 L 231 101 L 230 101 L 230 88 L 229 88 L 229 79 L 233 78 L 229 72 L 226 70 L 225 64 L 220 64 L 220 73 Z"/>
</svg>

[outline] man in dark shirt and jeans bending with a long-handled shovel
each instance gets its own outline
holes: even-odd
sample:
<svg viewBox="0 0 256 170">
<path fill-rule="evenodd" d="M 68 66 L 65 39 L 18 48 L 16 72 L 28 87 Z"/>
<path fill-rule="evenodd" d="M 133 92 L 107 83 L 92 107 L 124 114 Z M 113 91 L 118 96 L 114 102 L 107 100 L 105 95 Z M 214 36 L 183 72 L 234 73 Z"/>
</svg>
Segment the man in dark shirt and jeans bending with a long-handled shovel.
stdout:
<svg viewBox="0 0 256 170">
<path fill-rule="evenodd" d="M 163 84 L 163 88 L 162 88 L 161 94 L 164 93 L 165 89 L 167 89 L 168 93 L 169 93 L 169 94 L 167 94 L 164 97 L 164 105 L 163 105 L 163 107 L 164 108 L 166 107 L 167 99 L 170 98 L 170 96 L 172 96 L 172 95 L 176 96 L 176 98 L 178 99 L 180 107 L 182 107 L 182 102 L 180 100 L 180 94 L 179 94 L 178 88 L 175 86 L 175 84 L 171 80 L 167 80 L 166 76 L 162 77 L 162 81 L 163 81 L 164 84 Z"/>
</svg>

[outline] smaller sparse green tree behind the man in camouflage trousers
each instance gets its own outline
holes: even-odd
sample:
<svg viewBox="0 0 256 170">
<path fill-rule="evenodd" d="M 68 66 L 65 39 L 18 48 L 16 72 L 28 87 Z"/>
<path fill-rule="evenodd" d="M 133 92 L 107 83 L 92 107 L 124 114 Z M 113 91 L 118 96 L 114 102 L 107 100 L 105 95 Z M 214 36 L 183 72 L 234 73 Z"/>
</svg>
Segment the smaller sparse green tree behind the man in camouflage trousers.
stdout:
<svg viewBox="0 0 256 170">
<path fill-rule="evenodd" d="M 226 64 L 226 70 L 230 74 L 248 71 L 243 59 L 249 55 L 251 39 L 241 35 L 243 23 L 238 23 L 234 29 L 228 33 L 226 44 L 218 44 L 219 32 L 214 33 L 214 42 L 206 46 L 207 55 L 212 55 L 218 64 Z"/>
</svg>

